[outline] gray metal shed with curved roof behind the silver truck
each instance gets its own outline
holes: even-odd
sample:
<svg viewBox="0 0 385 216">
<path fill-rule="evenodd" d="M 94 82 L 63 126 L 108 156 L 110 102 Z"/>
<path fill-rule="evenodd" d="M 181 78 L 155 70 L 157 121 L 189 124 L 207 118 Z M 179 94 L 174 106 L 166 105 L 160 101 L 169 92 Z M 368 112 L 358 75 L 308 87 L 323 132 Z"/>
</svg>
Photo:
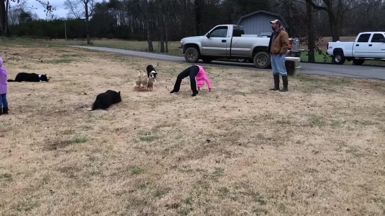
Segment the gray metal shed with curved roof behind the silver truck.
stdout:
<svg viewBox="0 0 385 216">
<path fill-rule="evenodd" d="M 282 22 L 281 26 L 288 31 L 290 27 L 281 15 L 265 10 L 258 10 L 242 16 L 239 18 L 237 25 L 243 26 L 245 34 L 248 35 L 271 35 L 270 21 L 277 19 Z"/>
</svg>

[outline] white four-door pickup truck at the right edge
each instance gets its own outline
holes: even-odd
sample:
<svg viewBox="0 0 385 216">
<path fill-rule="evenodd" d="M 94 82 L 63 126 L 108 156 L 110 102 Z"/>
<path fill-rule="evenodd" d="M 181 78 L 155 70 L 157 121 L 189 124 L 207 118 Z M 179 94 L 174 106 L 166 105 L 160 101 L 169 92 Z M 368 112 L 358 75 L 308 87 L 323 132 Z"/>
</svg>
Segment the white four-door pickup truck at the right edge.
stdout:
<svg viewBox="0 0 385 216">
<path fill-rule="evenodd" d="M 346 60 L 362 65 L 365 60 L 385 61 L 385 32 L 362 32 L 354 42 L 329 42 L 328 55 L 342 65 Z"/>
</svg>

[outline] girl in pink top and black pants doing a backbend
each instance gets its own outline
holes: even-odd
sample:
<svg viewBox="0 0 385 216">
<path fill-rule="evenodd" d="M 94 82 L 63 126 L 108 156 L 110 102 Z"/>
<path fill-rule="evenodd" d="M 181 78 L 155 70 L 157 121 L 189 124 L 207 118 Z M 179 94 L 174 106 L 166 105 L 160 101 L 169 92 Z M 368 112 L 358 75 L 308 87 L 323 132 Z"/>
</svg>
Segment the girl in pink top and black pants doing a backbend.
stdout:
<svg viewBox="0 0 385 216">
<path fill-rule="evenodd" d="M 209 91 L 211 91 L 210 80 L 207 78 L 206 73 L 203 70 L 203 67 L 199 65 L 193 65 L 186 68 L 186 70 L 182 71 L 181 73 L 179 73 L 179 75 L 176 78 L 174 89 L 170 93 L 178 93 L 179 89 L 181 88 L 182 80 L 187 76 L 190 76 L 190 83 L 191 83 L 191 90 L 192 90 L 191 96 L 198 95 L 196 86 L 198 85 L 198 90 L 200 90 L 200 88 L 204 85 L 205 81 L 207 83 L 207 86 L 209 87 Z"/>
</svg>

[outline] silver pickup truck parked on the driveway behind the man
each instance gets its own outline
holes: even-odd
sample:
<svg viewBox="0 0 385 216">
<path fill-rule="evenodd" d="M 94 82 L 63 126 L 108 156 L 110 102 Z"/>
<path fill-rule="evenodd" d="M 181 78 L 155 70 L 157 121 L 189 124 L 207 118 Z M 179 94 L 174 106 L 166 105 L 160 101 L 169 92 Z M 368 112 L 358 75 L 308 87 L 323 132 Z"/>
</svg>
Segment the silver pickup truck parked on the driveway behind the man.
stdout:
<svg viewBox="0 0 385 216">
<path fill-rule="evenodd" d="M 217 25 L 203 36 L 182 38 L 179 52 L 191 63 L 199 59 L 205 63 L 223 58 L 246 59 L 264 69 L 270 67 L 269 40 L 267 35 L 245 35 L 240 25 Z M 286 56 L 299 57 L 301 50 L 298 47 L 298 39 L 289 38 Z"/>
</svg>

